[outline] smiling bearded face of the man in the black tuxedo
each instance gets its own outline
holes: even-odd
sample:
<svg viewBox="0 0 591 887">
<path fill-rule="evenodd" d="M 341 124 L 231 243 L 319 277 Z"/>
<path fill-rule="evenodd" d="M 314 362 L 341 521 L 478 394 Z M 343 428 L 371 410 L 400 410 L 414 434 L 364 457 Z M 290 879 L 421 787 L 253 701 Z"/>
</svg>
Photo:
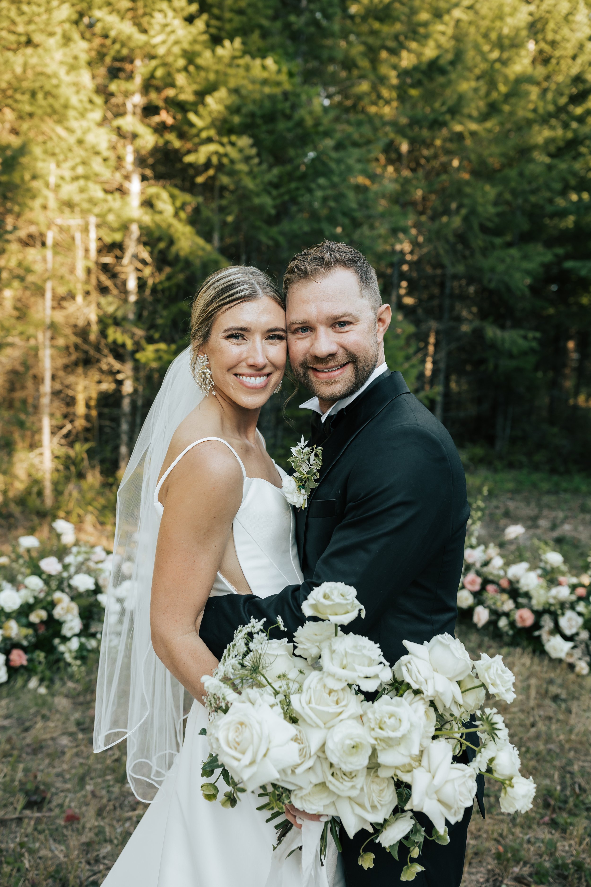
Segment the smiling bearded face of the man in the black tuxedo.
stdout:
<svg viewBox="0 0 591 887">
<path fill-rule="evenodd" d="M 321 408 L 362 387 L 384 360 L 389 305 L 377 311 L 354 271 L 337 268 L 316 280 L 299 280 L 287 294 L 287 343 L 296 378 Z"/>
</svg>

